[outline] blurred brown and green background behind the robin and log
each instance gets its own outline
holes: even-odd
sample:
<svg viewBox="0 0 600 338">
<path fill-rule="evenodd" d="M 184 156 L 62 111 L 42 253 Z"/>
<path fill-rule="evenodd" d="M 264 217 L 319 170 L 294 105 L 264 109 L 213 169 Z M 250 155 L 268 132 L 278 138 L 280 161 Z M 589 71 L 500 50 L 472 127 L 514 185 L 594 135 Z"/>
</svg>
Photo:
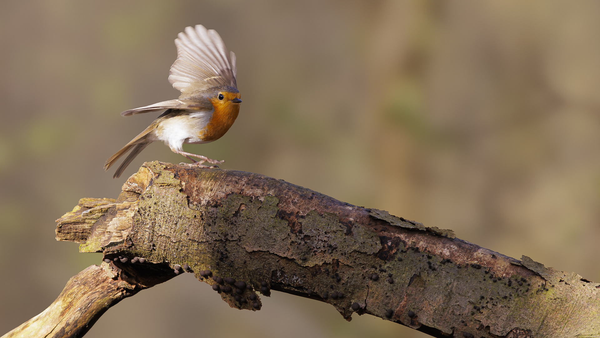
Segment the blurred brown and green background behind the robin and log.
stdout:
<svg viewBox="0 0 600 338">
<path fill-rule="evenodd" d="M 116 198 L 104 161 L 174 99 L 173 40 L 216 29 L 241 112 L 188 152 L 600 281 L 598 1 L 0 1 L 0 334 L 100 254 L 55 241 L 82 197 Z M 191 274 L 128 298 L 86 337 L 425 337 L 274 292 L 230 309 Z"/>
</svg>

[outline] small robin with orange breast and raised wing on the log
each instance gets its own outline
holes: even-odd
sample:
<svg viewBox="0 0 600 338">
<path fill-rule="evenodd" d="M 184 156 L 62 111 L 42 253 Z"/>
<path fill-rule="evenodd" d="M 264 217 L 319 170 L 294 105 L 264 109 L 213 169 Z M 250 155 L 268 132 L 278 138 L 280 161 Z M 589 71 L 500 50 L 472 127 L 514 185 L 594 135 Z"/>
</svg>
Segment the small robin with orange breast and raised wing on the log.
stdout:
<svg viewBox="0 0 600 338">
<path fill-rule="evenodd" d="M 123 116 L 145 112 L 164 112 L 143 132 L 106 160 L 109 170 L 121 156 L 131 150 L 113 178 L 120 177 L 127 165 L 154 141 L 163 141 L 174 153 L 200 168 L 218 168 L 224 162 L 184 152 L 183 144 L 200 144 L 221 138 L 235 122 L 242 100 L 236 84 L 236 57 L 214 29 L 203 25 L 189 26 L 175 39 L 177 59 L 169 71 L 169 82 L 181 91 L 175 100 L 129 109 Z M 198 158 L 199 161 L 194 160 Z M 204 162 L 212 164 L 203 165 Z"/>
</svg>

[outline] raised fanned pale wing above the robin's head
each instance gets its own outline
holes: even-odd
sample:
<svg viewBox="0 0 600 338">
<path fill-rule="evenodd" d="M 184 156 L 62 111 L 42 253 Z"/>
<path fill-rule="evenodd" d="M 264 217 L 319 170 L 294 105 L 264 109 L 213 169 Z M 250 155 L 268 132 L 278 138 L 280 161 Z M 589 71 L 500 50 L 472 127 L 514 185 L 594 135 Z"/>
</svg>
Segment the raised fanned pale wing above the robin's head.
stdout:
<svg viewBox="0 0 600 338">
<path fill-rule="evenodd" d="M 237 88 L 235 54 L 227 52 L 217 31 L 196 25 L 177 36 L 177 60 L 169 72 L 173 88 L 182 93 L 224 85 Z"/>
</svg>

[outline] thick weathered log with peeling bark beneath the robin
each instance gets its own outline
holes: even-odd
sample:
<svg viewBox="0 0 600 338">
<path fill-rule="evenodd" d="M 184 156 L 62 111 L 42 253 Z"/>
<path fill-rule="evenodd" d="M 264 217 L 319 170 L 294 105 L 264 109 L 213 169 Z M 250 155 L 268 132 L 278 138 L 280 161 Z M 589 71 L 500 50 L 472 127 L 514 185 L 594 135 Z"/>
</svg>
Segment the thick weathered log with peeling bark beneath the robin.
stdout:
<svg viewBox="0 0 600 338">
<path fill-rule="evenodd" d="M 106 268 L 157 282 L 190 272 L 237 309 L 259 310 L 258 293 L 279 290 L 434 337 L 600 335 L 598 283 L 259 174 L 149 162 L 117 200 L 82 198 L 57 221 L 58 240 L 104 253 Z"/>
</svg>

